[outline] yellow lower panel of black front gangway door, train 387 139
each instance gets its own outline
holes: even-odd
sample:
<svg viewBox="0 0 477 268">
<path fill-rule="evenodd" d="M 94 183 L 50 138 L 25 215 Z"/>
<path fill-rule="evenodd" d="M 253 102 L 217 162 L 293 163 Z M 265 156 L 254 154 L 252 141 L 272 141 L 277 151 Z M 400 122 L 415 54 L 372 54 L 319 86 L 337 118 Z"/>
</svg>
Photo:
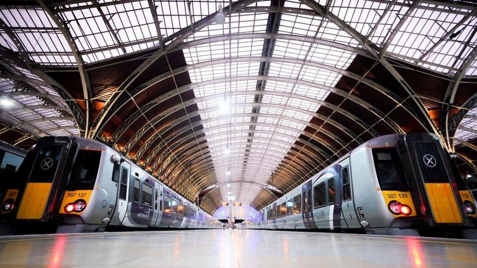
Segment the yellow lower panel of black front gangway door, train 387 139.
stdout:
<svg viewBox="0 0 477 268">
<path fill-rule="evenodd" d="M 462 223 L 451 184 L 425 184 L 436 223 Z"/>
</svg>

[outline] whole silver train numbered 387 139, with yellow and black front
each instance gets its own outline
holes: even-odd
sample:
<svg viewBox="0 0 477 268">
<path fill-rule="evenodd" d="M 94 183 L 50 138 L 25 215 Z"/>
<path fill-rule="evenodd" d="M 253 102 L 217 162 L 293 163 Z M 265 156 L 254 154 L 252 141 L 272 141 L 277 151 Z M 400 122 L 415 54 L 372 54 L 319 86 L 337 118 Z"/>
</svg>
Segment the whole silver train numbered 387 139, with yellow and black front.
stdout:
<svg viewBox="0 0 477 268">
<path fill-rule="evenodd" d="M 475 238 L 476 201 L 431 134 L 386 135 L 355 148 L 240 228 L 354 230 Z"/>
</svg>

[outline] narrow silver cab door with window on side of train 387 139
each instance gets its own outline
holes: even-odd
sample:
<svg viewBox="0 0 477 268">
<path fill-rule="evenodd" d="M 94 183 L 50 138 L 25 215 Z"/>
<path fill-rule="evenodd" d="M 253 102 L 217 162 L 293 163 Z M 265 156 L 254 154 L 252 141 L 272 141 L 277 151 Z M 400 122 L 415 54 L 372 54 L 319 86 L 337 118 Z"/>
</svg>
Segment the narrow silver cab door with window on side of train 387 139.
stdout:
<svg viewBox="0 0 477 268">
<path fill-rule="evenodd" d="M 341 205 L 341 227 L 342 228 L 359 228 L 361 225 L 358 221 L 356 214 L 354 201 L 352 198 L 352 183 L 351 183 L 351 170 L 349 165 L 349 158 L 340 163 L 341 167 L 341 193 L 343 204 Z"/>
</svg>

